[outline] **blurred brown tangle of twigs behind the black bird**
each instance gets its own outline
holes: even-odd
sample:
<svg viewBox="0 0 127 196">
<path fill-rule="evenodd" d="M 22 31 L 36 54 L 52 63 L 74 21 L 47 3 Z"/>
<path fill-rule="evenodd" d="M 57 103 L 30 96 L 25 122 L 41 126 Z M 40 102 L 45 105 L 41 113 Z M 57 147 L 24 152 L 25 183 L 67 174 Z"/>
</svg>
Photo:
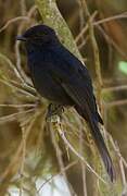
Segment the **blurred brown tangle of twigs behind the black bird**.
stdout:
<svg viewBox="0 0 127 196">
<path fill-rule="evenodd" d="M 48 9 L 46 1 L 43 9 Z M 127 1 L 87 0 L 100 73 L 94 65 L 84 0 L 58 0 L 56 5 L 92 77 L 110 133 L 104 132 L 104 138 L 115 163 L 117 186 L 112 189 L 110 183 L 109 188 L 99 184 L 58 133 L 52 135 L 47 126 L 47 100 L 34 89 L 24 47 L 15 41 L 16 35 L 42 20 L 36 2 L 0 0 L 0 195 L 127 195 Z M 85 124 L 73 109 L 65 110 L 63 124 L 69 143 L 78 151 L 82 144 L 87 161 L 107 180 Z M 85 134 L 79 134 L 80 130 Z"/>
</svg>

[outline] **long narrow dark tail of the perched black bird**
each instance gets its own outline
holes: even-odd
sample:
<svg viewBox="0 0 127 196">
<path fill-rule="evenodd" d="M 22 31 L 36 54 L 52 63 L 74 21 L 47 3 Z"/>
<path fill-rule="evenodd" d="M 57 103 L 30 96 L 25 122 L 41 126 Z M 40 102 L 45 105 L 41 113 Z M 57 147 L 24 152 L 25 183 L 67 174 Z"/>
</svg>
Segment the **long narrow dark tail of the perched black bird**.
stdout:
<svg viewBox="0 0 127 196">
<path fill-rule="evenodd" d="M 77 110 L 77 108 L 76 108 Z M 78 113 L 86 119 L 86 117 L 84 115 L 82 112 L 80 112 L 79 110 L 77 110 Z M 115 180 L 115 170 L 113 167 L 113 162 L 112 159 L 110 157 L 110 154 L 107 151 L 107 148 L 104 144 L 103 137 L 100 133 L 100 130 L 98 127 L 98 122 L 96 120 L 91 120 L 91 118 L 89 119 L 89 126 L 90 126 L 90 131 L 91 131 L 91 135 L 93 136 L 94 143 L 98 147 L 98 150 L 101 155 L 101 158 L 103 160 L 103 163 L 105 166 L 105 169 L 110 175 L 111 181 L 113 182 Z"/>
</svg>

